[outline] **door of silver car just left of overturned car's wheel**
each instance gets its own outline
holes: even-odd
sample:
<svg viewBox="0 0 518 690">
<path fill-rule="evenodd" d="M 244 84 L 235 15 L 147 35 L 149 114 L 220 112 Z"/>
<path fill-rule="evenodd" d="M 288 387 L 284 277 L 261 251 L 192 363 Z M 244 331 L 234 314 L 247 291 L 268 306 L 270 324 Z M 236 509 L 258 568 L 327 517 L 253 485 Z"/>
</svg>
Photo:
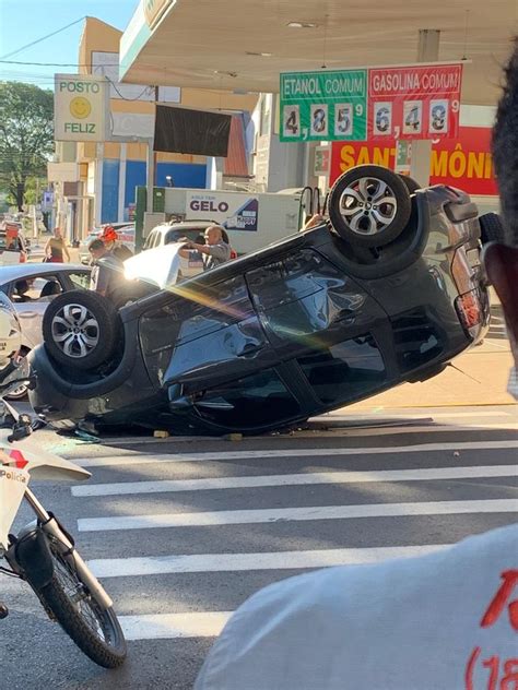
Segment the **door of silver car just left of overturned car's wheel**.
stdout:
<svg viewBox="0 0 518 690">
<path fill-rule="evenodd" d="M 27 284 L 26 290 L 24 290 L 24 283 Z M 42 321 L 45 310 L 54 297 L 66 289 L 67 286 L 59 271 L 55 274 L 36 273 L 11 283 L 9 297 L 20 317 L 24 345 L 31 349 L 42 343 Z"/>
</svg>

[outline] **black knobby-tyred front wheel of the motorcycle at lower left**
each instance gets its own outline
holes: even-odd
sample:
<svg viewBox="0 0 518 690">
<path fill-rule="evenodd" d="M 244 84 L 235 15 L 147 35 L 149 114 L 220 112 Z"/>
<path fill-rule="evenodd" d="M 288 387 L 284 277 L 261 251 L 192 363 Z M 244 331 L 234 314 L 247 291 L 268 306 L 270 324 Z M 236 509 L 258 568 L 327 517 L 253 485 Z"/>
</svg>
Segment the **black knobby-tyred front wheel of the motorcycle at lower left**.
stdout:
<svg viewBox="0 0 518 690">
<path fill-rule="evenodd" d="M 52 580 L 38 592 L 64 632 L 79 649 L 104 668 L 117 668 L 126 658 L 126 640 L 113 608 L 101 608 L 81 582 L 75 568 L 49 543 Z"/>
</svg>

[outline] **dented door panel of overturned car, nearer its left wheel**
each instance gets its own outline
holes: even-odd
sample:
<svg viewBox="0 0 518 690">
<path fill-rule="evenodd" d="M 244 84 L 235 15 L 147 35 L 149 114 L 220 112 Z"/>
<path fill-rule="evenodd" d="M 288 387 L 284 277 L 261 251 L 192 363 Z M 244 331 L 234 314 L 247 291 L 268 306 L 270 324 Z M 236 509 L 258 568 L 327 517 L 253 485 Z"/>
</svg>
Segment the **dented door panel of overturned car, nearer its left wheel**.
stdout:
<svg viewBox="0 0 518 690">
<path fill-rule="evenodd" d="M 245 279 L 191 283 L 140 322 L 150 376 L 162 385 L 197 391 L 273 366 L 276 361 L 250 302 Z"/>
</svg>

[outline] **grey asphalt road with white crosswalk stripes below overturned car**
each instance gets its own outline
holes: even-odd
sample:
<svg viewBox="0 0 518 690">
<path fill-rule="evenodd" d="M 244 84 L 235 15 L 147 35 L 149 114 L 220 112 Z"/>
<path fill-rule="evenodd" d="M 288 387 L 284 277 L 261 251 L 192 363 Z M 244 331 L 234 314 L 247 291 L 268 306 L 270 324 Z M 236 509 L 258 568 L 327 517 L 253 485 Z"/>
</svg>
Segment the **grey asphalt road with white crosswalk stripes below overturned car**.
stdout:
<svg viewBox="0 0 518 690">
<path fill-rule="evenodd" d="M 119 670 L 98 668 L 26 585 L 2 578 L 11 614 L 0 621 L 0 686 L 191 688 L 229 612 L 259 587 L 515 521 L 517 428 L 507 405 L 332 415 L 239 442 L 87 444 L 38 432 L 42 447 L 93 473 L 34 489 L 115 599 L 129 656 Z"/>
</svg>

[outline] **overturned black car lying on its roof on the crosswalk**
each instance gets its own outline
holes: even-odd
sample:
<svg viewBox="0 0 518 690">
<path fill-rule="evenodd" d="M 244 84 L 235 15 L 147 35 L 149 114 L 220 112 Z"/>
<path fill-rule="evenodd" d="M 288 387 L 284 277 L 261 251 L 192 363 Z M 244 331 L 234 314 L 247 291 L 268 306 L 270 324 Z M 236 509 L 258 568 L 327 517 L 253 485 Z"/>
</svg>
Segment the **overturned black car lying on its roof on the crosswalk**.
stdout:
<svg viewBox="0 0 518 690">
<path fill-rule="evenodd" d="M 437 374 L 487 329 L 481 228 L 463 192 L 416 187 L 360 166 L 319 227 L 119 311 L 93 293 L 59 296 L 32 353 L 35 411 L 258 433 Z M 66 352 L 80 332 L 89 347 Z"/>
</svg>

